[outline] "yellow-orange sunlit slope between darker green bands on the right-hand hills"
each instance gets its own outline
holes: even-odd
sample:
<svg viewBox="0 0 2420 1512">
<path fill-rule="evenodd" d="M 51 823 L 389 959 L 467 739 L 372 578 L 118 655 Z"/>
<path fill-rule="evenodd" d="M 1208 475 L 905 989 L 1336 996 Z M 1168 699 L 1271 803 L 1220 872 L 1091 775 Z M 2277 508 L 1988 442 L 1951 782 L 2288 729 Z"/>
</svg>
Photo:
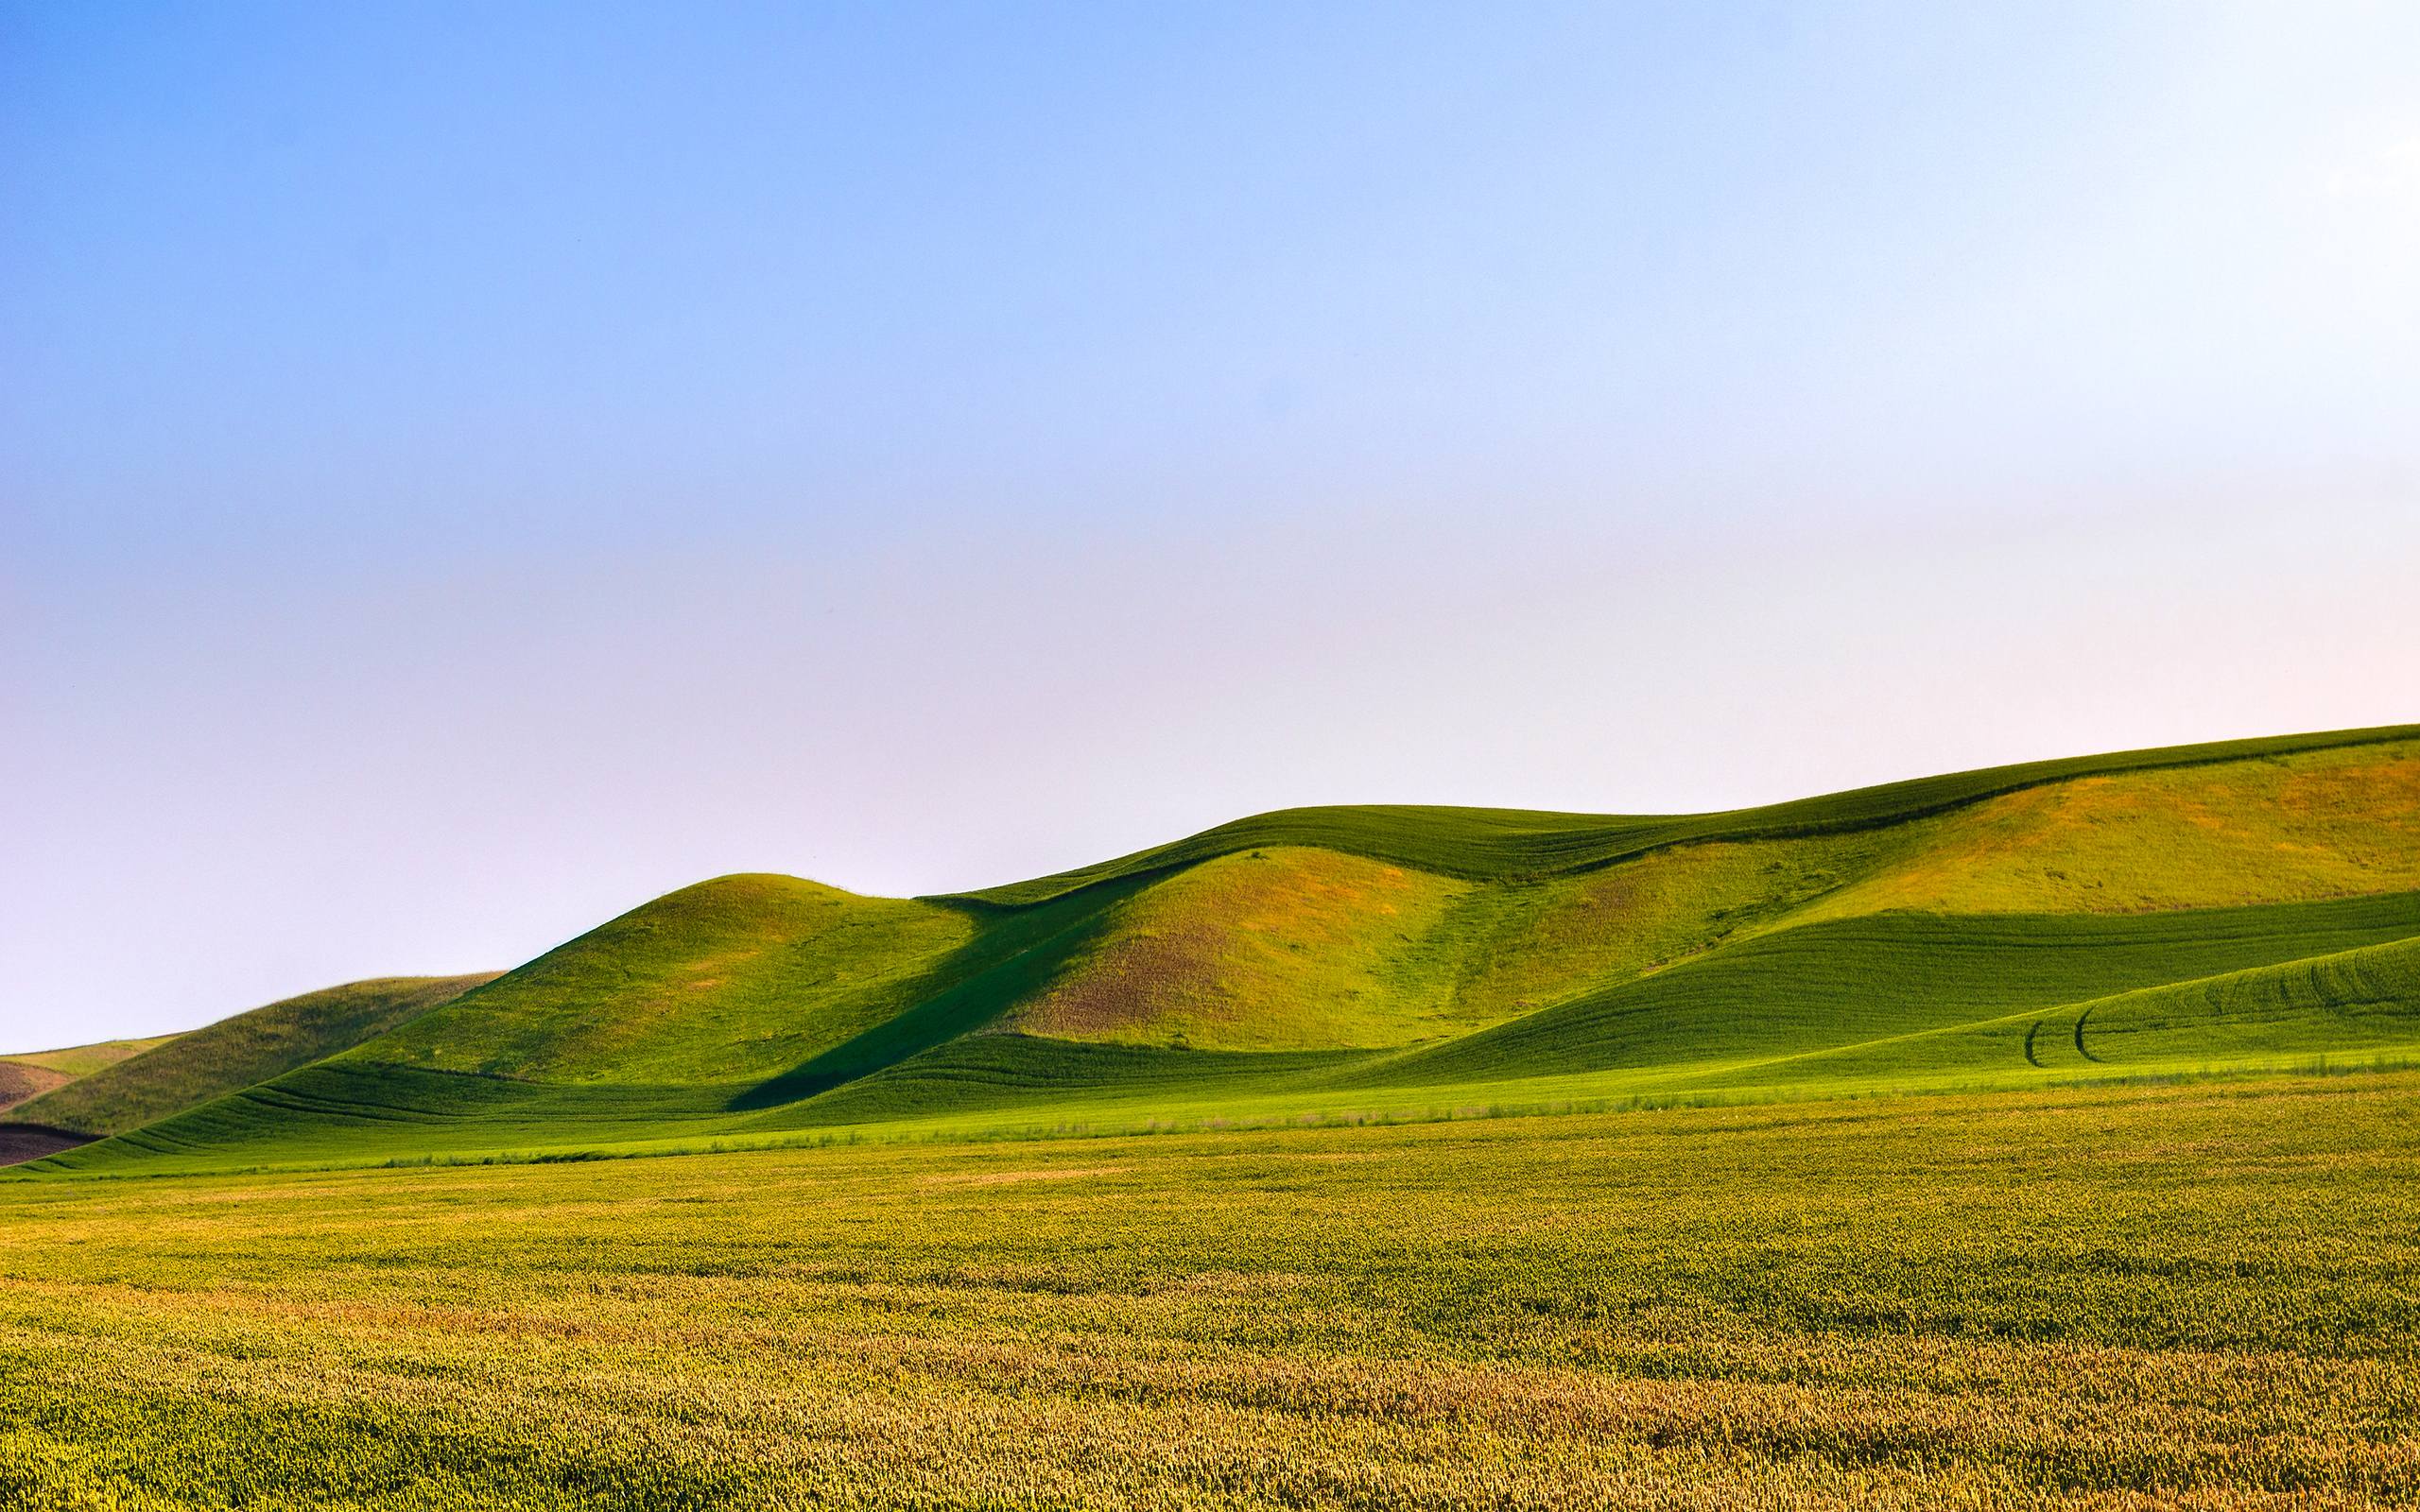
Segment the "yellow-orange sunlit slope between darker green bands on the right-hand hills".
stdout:
<svg viewBox="0 0 2420 1512">
<path fill-rule="evenodd" d="M 1316 847 L 1137 876 L 1145 890 L 1007 1028 L 1198 1050 L 1408 1045 L 1779 927 L 2415 890 L 2420 743 L 2091 774 L 1900 825 L 1675 844 L 1496 885 Z"/>
</svg>

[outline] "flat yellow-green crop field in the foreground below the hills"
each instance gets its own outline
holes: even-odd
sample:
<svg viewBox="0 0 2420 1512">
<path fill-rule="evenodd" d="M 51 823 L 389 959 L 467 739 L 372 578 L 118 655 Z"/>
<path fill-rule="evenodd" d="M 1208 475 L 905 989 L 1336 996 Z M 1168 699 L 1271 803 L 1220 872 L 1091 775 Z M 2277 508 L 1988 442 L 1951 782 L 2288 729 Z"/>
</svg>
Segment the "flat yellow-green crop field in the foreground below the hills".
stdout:
<svg viewBox="0 0 2420 1512">
<path fill-rule="evenodd" d="M 2410 1505 L 2415 1106 L 15 1181 L 0 1505 Z"/>
</svg>

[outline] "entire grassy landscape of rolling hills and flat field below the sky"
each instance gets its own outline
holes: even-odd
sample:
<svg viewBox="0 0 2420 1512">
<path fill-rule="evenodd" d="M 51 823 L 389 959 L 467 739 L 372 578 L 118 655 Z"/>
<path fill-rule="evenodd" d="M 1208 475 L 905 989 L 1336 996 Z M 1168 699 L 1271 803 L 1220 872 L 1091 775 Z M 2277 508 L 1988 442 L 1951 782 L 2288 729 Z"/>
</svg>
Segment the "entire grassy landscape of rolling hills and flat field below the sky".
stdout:
<svg viewBox="0 0 2420 1512">
<path fill-rule="evenodd" d="M 2413 728 L 731 876 L 87 1060 L 0 1507 L 2420 1502 Z"/>
</svg>

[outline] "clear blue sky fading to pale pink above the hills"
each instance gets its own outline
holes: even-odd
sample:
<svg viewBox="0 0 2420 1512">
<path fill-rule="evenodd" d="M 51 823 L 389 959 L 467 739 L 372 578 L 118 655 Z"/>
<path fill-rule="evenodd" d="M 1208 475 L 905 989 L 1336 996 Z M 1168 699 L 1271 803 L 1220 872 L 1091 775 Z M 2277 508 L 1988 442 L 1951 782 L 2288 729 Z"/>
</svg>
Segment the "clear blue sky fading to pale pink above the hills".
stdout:
<svg viewBox="0 0 2420 1512">
<path fill-rule="evenodd" d="M 2420 719 L 2420 7 L 0 2 L 0 1050 Z"/>
</svg>

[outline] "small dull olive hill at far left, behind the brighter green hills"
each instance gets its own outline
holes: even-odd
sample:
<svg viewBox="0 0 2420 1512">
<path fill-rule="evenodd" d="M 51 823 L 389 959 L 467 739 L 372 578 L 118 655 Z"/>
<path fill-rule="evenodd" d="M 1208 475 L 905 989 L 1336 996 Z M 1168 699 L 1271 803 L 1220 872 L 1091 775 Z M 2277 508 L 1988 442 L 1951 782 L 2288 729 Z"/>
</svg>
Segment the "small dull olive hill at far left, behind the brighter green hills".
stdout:
<svg viewBox="0 0 2420 1512">
<path fill-rule="evenodd" d="M 288 997 L 155 1043 L 10 1110 L 87 1135 L 116 1135 L 269 1081 L 460 997 L 489 977 L 378 977 Z"/>
</svg>

